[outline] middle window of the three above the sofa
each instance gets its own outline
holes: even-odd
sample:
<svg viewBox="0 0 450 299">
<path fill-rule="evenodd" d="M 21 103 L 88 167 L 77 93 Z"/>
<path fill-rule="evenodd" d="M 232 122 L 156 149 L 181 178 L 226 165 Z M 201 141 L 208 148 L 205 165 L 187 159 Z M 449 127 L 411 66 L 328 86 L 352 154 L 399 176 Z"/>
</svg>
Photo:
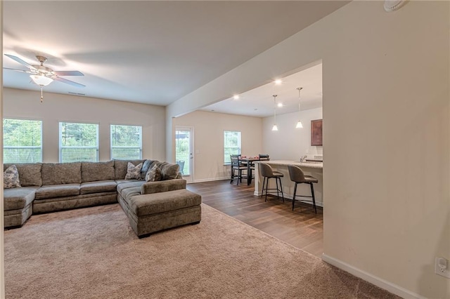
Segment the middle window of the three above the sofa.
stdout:
<svg viewBox="0 0 450 299">
<path fill-rule="evenodd" d="M 98 124 L 59 123 L 59 161 L 98 161 Z"/>
</svg>

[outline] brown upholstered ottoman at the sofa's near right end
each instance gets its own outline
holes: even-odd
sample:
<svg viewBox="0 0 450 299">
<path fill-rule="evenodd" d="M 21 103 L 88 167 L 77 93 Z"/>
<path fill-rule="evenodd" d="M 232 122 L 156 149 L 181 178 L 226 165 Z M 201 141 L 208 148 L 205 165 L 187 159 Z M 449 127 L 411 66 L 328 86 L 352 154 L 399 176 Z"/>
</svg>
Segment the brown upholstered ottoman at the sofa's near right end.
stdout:
<svg viewBox="0 0 450 299">
<path fill-rule="evenodd" d="M 120 201 L 129 223 L 139 238 L 150 233 L 187 224 L 198 224 L 202 197 L 186 189 L 141 194 Z"/>
</svg>

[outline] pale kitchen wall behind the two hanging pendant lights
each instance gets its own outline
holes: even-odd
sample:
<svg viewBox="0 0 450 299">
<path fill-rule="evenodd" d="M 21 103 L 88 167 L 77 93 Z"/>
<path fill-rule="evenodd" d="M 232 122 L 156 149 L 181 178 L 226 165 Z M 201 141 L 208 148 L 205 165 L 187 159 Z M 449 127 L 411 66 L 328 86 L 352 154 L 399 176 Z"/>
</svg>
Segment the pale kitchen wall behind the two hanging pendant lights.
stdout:
<svg viewBox="0 0 450 299">
<path fill-rule="evenodd" d="M 323 154 L 323 147 L 311 146 L 311 120 L 322 119 L 322 108 L 303 110 L 300 113 L 303 128 L 295 128 L 298 119 L 298 112 L 277 115 L 278 131 L 271 131 L 274 117 L 264 117 L 262 148 L 270 154 L 271 159 L 296 161 L 304 154 L 311 157 Z"/>
</svg>

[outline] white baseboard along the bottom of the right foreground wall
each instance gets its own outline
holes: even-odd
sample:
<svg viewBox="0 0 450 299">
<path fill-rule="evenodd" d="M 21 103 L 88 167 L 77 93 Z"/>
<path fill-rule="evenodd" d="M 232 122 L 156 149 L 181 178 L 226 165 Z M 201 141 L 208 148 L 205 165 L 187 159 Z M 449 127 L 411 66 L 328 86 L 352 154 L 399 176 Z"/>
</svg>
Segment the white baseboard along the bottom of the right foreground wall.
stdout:
<svg viewBox="0 0 450 299">
<path fill-rule="evenodd" d="M 341 260 L 332 258 L 329 255 L 326 255 L 325 253 L 322 254 L 322 260 L 330 265 L 333 265 L 335 267 L 338 267 L 341 270 L 344 270 L 345 272 L 349 272 L 350 274 L 353 274 L 356 277 L 364 279 L 365 281 L 368 281 L 371 284 L 375 284 L 375 286 L 383 288 L 386 291 L 390 291 L 391 293 L 394 293 L 395 295 L 399 295 L 401 298 L 426 299 L 425 297 L 423 297 L 419 294 L 416 294 L 416 293 L 406 290 L 406 288 L 402 288 L 401 286 L 392 284 L 389 281 L 386 281 L 386 280 L 381 279 L 380 277 L 376 277 L 375 275 L 370 274 L 366 271 L 363 271 L 356 267 L 353 267 L 352 265 L 344 263 Z"/>
</svg>

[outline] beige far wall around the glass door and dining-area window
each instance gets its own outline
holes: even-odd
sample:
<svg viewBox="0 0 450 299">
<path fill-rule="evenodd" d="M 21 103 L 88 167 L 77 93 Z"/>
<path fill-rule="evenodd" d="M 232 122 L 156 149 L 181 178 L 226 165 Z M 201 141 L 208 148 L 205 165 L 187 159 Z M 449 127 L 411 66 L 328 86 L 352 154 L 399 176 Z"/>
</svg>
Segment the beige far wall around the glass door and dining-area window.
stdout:
<svg viewBox="0 0 450 299">
<path fill-rule="evenodd" d="M 174 131 L 176 126 L 194 129 L 194 182 L 230 177 L 230 166 L 224 166 L 224 131 L 240 131 L 242 154 L 262 153 L 259 117 L 196 111 L 173 119 Z"/>
</svg>

